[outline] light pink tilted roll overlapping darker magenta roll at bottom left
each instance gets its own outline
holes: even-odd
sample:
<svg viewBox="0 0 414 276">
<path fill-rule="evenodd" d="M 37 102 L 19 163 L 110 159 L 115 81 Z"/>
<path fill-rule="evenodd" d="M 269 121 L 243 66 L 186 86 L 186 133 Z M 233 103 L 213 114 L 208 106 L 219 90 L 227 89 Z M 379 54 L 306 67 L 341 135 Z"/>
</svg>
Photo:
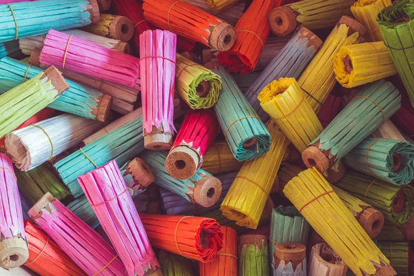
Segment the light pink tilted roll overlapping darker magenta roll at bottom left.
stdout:
<svg viewBox="0 0 414 276">
<path fill-rule="evenodd" d="M 112 160 L 78 177 L 78 181 L 128 275 L 142 276 L 156 270 L 157 257 L 117 163 Z"/>
</svg>

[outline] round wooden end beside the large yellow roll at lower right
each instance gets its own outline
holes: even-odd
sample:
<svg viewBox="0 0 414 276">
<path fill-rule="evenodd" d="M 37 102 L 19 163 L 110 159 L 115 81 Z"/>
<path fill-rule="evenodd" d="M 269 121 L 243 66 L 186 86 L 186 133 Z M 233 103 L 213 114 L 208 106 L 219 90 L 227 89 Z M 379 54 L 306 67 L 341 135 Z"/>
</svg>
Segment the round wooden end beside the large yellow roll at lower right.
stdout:
<svg viewBox="0 0 414 276">
<path fill-rule="evenodd" d="M 362 210 L 357 216 L 357 219 L 371 239 L 377 237 L 382 227 L 384 227 L 384 215 L 372 207 Z"/>
</svg>

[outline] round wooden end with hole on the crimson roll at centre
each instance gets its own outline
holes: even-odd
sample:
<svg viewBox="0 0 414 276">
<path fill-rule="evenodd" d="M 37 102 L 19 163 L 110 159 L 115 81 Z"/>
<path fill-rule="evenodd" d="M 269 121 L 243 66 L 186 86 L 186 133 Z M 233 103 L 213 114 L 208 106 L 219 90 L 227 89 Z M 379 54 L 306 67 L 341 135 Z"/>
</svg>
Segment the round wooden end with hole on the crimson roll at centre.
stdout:
<svg viewBox="0 0 414 276">
<path fill-rule="evenodd" d="M 200 162 L 197 151 L 188 146 L 172 148 L 166 158 L 166 170 L 175 179 L 188 179 L 195 174 Z"/>
</svg>

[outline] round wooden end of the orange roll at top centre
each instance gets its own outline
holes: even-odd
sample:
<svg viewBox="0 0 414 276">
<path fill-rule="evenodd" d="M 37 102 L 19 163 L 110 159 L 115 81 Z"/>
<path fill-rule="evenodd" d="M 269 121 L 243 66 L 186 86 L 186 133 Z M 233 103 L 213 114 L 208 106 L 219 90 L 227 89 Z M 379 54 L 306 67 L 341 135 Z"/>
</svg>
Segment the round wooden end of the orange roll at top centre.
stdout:
<svg viewBox="0 0 414 276">
<path fill-rule="evenodd" d="M 210 37 L 208 38 L 208 44 L 211 48 L 226 52 L 233 47 L 236 41 L 236 30 L 228 23 L 219 23 L 211 30 Z"/>
</svg>

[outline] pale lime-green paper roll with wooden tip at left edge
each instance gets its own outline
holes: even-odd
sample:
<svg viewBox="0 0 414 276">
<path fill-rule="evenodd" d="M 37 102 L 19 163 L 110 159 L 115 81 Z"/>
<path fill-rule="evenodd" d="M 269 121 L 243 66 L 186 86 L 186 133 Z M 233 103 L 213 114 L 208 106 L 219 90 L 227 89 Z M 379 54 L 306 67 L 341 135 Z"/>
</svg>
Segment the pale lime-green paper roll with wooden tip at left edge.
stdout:
<svg viewBox="0 0 414 276">
<path fill-rule="evenodd" d="M 68 83 L 60 72 L 51 66 L 25 83 L 0 95 L 0 138 L 52 103 Z"/>
</svg>

